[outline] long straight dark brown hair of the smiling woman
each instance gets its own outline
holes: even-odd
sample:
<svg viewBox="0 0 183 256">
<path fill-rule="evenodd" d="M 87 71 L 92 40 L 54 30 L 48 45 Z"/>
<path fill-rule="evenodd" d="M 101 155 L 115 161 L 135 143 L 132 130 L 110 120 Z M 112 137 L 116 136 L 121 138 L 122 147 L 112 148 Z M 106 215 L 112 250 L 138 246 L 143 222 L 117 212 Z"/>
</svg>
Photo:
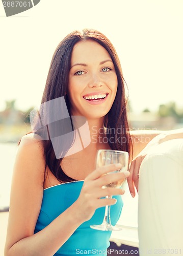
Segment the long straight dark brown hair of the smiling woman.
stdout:
<svg viewBox="0 0 183 256">
<path fill-rule="evenodd" d="M 73 31 L 67 35 L 58 45 L 50 63 L 50 68 L 46 80 L 45 89 L 42 96 L 41 103 L 64 97 L 67 109 L 70 113 L 69 98 L 66 94 L 71 54 L 74 45 L 79 41 L 94 40 L 104 47 L 110 54 L 118 79 L 117 93 L 111 110 L 106 115 L 104 126 L 107 128 L 108 143 L 112 150 L 127 151 L 132 154 L 132 140 L 129 134 L 129 127 L 127 122 L 126 104 L 127 97 L 125 95 L 125 81 L 123 79 L 122 70 L 116 50 L 110 40 L 96 30 L 85 29 L 83 33 L 80 31 Z M 119 131 L 120 134 L 116 133 Z M 61 168 L 63 158 L 57 159 L 51 140 L 43 140 L 44 155 L 45 155 L 45 172 L 46 166 L 60 182 L 74 181 L 68 177 Z"/>
</svg>

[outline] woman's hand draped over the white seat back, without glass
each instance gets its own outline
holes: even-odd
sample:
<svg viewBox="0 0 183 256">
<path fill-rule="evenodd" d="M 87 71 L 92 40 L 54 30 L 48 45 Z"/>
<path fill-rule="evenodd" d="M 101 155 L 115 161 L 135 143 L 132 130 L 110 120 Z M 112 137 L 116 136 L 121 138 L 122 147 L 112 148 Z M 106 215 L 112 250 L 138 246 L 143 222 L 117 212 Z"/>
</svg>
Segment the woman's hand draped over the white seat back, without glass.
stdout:
<svg viewBox="0 0 183 256">
<path fill-rule="evenodd" d="M 130 191 L 132 197 L 135 197 L 135 187 L 138 191 L 139 169 L 140 169 L 142 161 L 144 160 L 144 158 L 147 154 L 154 151 L 155 146 L 163 143 L 166 140 L 167 140 L 166 133 L 157 135 L 147 144 L 147 146 L 139 153 L 139 155 L 132 160 L 132 163 L 129 168 L 130 175 L 127 178 L 129 191 Z"/>
</svg>

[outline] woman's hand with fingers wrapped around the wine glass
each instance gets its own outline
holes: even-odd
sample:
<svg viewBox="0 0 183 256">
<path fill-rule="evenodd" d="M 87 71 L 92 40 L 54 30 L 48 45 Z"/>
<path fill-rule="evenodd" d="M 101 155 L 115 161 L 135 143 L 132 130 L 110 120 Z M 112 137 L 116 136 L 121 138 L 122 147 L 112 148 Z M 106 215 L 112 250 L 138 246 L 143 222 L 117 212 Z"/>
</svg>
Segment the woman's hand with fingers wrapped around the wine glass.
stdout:
<svg viewBox="0 0 183 256">
<path fill-rule="evenodd" d="M 80 196 L 75 201 L 77 209 L 79 209 L 76 214 L 76 218 L 79 218 L 78 220 L 81 221 L 82 219 L 82 221 L 87 221 L 91 219 L 97 208 L 116 203 L 116 199 L 114 198 L 106 199 L 102 197 L 124 194 L 124 190 L 121 188 L 102 188 L 104 185 L 125 179 L 129 176 L 129 172 L 118 172 L 106 175 L 119 168 L 121 168 L 121 164 L 119 163 L 109 164 L 95 169 L 86 177 Z"/>
</svg>

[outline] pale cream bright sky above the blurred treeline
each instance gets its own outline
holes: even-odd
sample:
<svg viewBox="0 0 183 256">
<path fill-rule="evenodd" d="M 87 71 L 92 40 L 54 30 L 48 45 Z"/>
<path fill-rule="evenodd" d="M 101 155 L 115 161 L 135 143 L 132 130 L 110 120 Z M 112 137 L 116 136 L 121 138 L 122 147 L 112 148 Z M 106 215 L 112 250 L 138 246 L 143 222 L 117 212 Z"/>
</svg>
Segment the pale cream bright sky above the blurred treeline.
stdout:
<svg viewBox="0 0 183 256">
<path fill-rule="evenodd" d="M 93 28 L 115 46 L 134 112 L 183 107 L 182 0 L 41 0 L 6 17 L 0 3 L 0 111 L 40 104 L 51 57 L 71 31 Z"/>
</svg>

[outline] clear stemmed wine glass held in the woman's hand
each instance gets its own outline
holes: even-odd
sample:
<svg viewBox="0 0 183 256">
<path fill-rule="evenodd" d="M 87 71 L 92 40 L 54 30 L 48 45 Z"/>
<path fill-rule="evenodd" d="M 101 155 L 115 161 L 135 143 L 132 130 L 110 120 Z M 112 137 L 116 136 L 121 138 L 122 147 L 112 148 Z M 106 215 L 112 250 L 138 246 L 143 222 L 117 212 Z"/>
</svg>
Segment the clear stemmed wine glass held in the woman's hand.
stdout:
<svg viewBox="0 0 183 256">
<path fill-rule="evenodd" d="M 117 150 L 98 150 L 96 156 L 96 168 L 101 167 L 103 165 L 108 165 L 111 163 L 121 163 L 121 169 L 117 169 L 114 172 L 108 173 L 108 175 L 116 172 L 125 172 L 128 169 L 128 153 L 125 151 L 117 151 Z M 112 182 L 103 186 L 106 187 L 115 187 L 120 188 L 124 183 L 124 179 Z M 112 196 L 107 196 L 106 198 L 112 198 Z M 110 208 L 111 205 L 106 205 L 105 214 L 103 218 L 103 222 L 100 225 L 91 225 L 90 227 L 97 230 L 103 231 L 112 231 L 112 230 L 121 230 L 121 228 L 113 226 L 111 224 L 110 217 Z"/>
</svg>

